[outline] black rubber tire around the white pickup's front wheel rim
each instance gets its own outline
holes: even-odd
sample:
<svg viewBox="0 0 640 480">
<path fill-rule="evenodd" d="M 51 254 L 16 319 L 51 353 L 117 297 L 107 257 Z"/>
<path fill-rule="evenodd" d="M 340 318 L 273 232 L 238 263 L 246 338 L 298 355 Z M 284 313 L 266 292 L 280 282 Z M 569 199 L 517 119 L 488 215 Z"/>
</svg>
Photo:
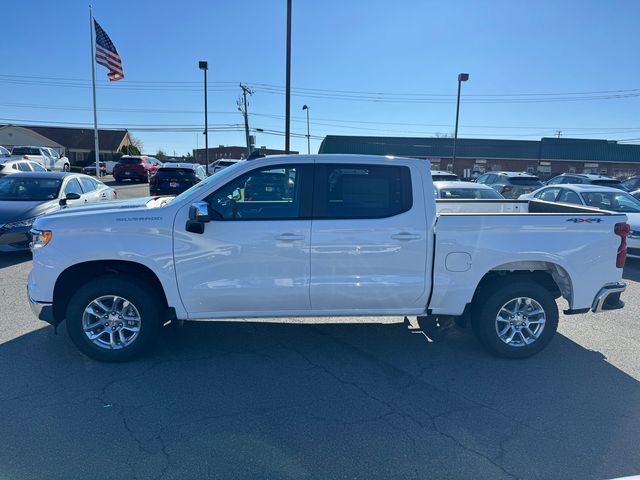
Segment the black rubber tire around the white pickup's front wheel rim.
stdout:
<svg viewBox="0 0 640 480">
<path fill-rule="evenodd" d="M 129 300 L 138 310 L 140 318 L 137 337 L 130 345 L 115 350 L 93 343 L 85 334 L 82 324 L 88 305 L 106 295 Z M 67 307 L 67 332 L 76 347 L 88 357 L 101 362 L 123 362 L 139 356 L 155 342 L 162 327 L 163 311 L 158 296 L 141 282 L 123 275 L 105 275 L 87 282 L 73 295 Z"/>
</svg>

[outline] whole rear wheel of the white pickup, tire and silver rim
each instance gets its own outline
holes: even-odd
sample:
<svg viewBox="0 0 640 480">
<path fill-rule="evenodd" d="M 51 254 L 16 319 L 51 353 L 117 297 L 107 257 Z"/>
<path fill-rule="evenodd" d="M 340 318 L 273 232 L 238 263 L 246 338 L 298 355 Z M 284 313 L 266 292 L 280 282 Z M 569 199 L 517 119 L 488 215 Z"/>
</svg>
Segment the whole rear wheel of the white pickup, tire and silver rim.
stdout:
<svg viewBox="0 0 640 480">
<path fill-rule="evenodd" d="M 505 358 L 526 358 L 544 349 L 558 329 L 551 292 L 530 280 L 505 278 L 491 284 L 472 313 L 473 331 L 487 350 Z"/>
</svg>

